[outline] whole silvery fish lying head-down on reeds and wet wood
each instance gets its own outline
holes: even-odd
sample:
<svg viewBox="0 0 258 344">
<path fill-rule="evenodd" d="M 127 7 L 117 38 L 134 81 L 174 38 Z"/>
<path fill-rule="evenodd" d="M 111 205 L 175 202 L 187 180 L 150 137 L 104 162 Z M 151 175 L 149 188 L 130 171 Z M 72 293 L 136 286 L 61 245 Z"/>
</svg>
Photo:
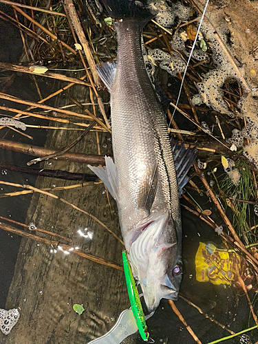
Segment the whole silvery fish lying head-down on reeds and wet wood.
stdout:
<svg viewBox="0 0 258 344">
<path fill-rule="evenodd" d="M 182 280 L 177 173 L 166 116 L 142 56 L 142 30 L 155 13 L 145 0 L 102 2 L 118 39 L 117 60 L 98 67 L 110 92 L 114 161 L 106 157 L 106 166 L 89 168 L 116 200 L 133 276 L 151 313 L 160 299 L 178 299 Z M 181 173 L 195 154 L 182 147 L 178 151 Z"/>
</svg>

